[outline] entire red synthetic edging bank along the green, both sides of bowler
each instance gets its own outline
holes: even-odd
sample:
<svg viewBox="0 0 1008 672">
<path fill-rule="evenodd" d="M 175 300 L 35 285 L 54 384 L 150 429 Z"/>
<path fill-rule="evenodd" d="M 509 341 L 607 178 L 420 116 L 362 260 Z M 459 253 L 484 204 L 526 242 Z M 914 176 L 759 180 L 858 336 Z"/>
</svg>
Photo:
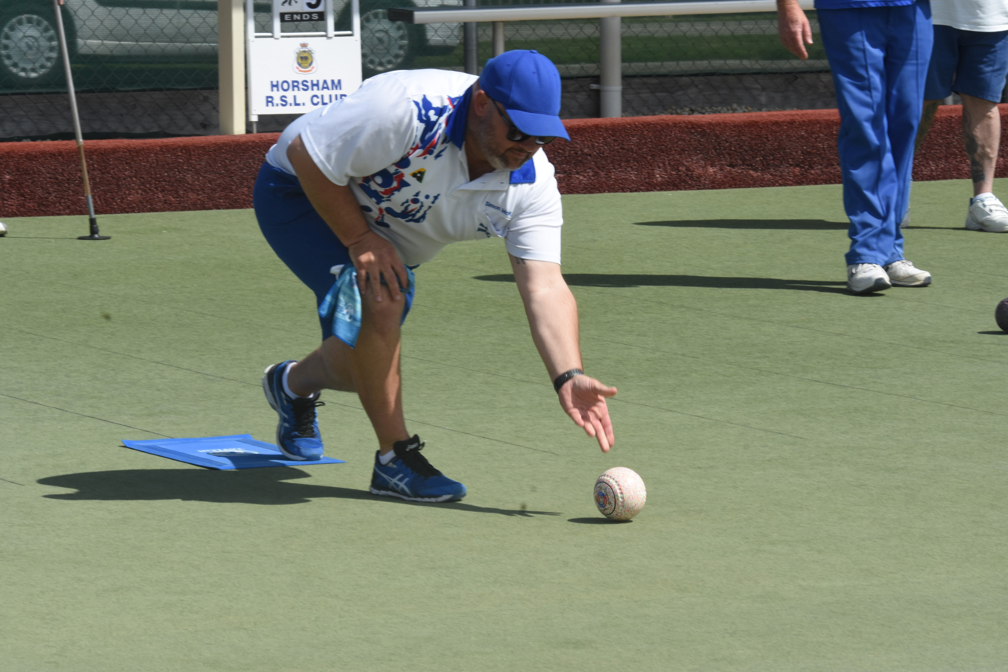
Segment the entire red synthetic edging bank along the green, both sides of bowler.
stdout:
<svg viewBox="0 0 1008 672">
<path fill-rule="evenodd" d="M 1008 105 L 1000 106 L 1008 116 Z M 959 106 L 939 109 L 914 178 L 969 177 Z M 563 193 L 840 182 L 836 110 L 575 119 L 547 152 Z M 277 133 L 85 143 L 99 214 L 251 208 Z M 0 143 L 0 216 L 85 212 L 73 141 Z M 998 176 L 1008 174 L 998 159 Z"/>
</svg>

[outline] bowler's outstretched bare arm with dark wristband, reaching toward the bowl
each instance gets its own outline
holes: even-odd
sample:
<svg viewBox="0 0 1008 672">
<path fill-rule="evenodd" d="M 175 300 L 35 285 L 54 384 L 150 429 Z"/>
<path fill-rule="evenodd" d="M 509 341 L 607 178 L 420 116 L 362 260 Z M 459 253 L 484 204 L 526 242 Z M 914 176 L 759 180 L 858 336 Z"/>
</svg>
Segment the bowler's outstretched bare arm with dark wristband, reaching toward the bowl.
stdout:
<svg viewBox="0 0 1008 672">
<path fill-rule="evenodd" d="M 525 304 L 532 341 L 553 380 L 571 369 L 581 369 L 578 343 L 578 303 L 563 281 L 559 264 L 530 261 L 508 255 L 518 292 Z M 575 376 L 559 390 L 563 411 L 599 441 L 603 452 L 615 442 L 606 397 L 616 388 L 603 385 L 588 376 Z"/>
</svg>

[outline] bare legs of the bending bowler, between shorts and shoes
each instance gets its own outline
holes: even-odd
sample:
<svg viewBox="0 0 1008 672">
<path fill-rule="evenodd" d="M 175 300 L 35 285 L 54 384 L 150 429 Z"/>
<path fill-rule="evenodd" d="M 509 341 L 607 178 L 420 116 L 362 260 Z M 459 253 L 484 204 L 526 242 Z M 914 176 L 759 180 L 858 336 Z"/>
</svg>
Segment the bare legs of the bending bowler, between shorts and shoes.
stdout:
<svg viewBox="0 0 1008 672">
<path fill-rule="evenodd" d="M 399 321 L 405 303 L 395 301 L 386 287 L 382 301 L 361 297 L 363 315 L 357 348 L 331 337 L 313 353 L 290 368 L 290 391 L 308 396 L 323 389 L 357 392 L 371 419 L 382 454 L 396 441 L 409 438 L 402 417 L 402 381 L 399 373 Z"/>
</svg>

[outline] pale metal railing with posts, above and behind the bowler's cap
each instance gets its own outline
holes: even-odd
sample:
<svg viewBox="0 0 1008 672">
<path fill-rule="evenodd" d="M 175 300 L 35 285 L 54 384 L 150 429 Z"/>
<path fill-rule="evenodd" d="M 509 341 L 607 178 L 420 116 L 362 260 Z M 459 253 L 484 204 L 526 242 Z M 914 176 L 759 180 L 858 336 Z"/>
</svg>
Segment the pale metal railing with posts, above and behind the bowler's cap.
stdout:
<svg viewBox="0 0 1008 672">
<path fill-rule="evenodd" d="M 467 2 L 467 5 L 469 3 Z M 802 9 L 812 9 L 813 0 L 799 0 Z M 620 19 L 624 16 L 676 16 L 687 14 L 741 14 L 769 12 L 775 0 L 703 0 L 686 2 L 626 2 L 601 0 L 599 3 L 564 5 L 521 5 L 496 7 L 393 8 L 391 21 L 404 23 L 465 23 L 474 29 L 465 32 L 466 72 L 477 75 L 477 23 L 493 23 L 494 55 L 503 53 L 504 22 L 543 19 L 601 19 L 599 35 L 599 90 L 602 117 L 623 115 L 623 49 Z M 472 54 L 472 55 L 471 55 Z"/>
</svg>

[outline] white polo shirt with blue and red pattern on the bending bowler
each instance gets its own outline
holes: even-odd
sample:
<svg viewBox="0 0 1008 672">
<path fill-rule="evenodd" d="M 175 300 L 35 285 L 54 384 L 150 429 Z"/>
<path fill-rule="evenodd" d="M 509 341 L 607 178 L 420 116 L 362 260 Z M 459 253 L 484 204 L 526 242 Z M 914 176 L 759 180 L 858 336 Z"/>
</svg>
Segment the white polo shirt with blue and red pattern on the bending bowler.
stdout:
<svg viewBox="0 0 1008 672">
<path fill-rule="evenodd" d="M 350 184 L 371 229 L 407 266 L 449 243 L 499 236 L 515 257 L 560 263 L 560 194 L 540 149 L 515 171 L 474 180 L 463 142 L 473 75 L 396 71 L 294 121 L 266 154 L 294 174 L 298 135 L 319 169 Z"/>
</svg>

